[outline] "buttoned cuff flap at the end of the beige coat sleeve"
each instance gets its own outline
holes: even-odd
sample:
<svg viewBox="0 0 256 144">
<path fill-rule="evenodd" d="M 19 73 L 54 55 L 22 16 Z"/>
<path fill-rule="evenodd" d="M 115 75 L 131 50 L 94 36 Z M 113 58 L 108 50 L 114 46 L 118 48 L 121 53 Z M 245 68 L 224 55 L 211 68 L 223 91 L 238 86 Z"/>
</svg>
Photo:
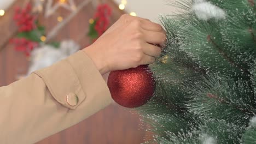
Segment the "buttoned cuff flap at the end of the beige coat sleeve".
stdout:
<svg viewBox="0 0 256 144">
<path fill-rule="evenodd" d="M 83 51 L 34 74 L 42 77 L 55 100 L 68 109 L 76 109 L 87 97 L 94 95 L 104 95 L 106 105 L 112 101 L 107 83 Z"/>
</svg>

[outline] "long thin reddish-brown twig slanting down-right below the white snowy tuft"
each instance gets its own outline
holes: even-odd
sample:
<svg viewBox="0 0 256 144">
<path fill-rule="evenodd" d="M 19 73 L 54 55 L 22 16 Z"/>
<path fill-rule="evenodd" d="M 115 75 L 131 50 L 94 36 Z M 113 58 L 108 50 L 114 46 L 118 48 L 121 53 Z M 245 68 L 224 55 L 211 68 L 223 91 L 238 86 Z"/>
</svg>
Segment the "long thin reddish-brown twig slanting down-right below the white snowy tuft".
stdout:
<svg viewBox="0 0 256 144">
<path fill-rule="evenodd" d="M 211 38 L 211 35 L 207 35 L 207 41 L 211 42 L 213 44 L 214 47 L 216 47 L 216 49 L 218 49 L 219 53 L 222 54 L 222 56 L 226 59 L 226 61 L 228 61 L 231 65 L 239 68 L 240 70 L 242 70 L 246 75 L 249 75 L 249 71 L 246 69 L 243 69 L 239 64 L 236 64 L 229 56 L 226 52 L 224 52 L 222 49 L 220 49 L 220 47 L 217 45 L 217 43 L 215 43 L 215 41 Z"/>
</svg>

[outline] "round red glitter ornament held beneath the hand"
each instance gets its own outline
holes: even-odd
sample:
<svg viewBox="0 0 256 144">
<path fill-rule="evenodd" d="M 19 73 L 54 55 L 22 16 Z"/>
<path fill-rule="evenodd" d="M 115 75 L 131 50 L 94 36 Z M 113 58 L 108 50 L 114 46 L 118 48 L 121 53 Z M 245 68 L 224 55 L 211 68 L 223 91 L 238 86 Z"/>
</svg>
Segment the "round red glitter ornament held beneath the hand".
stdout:
<svg viewBox="0 0 256 144">
<path fill-rule="evenodd" d="M 124 107 L 139 107 L 153 97 L 155 81 L 148 65 L 112 71 L 108 87 L 115 102 Z"/>
</svg>

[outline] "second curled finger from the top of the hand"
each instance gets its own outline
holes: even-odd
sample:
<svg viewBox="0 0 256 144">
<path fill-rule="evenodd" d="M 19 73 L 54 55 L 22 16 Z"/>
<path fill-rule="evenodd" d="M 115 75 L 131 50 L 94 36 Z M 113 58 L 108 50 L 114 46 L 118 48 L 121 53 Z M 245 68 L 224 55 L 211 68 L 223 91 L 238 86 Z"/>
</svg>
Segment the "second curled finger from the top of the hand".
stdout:
<svg viewBox="0 0 256 144">
<path fill-rule="evenodd" d="M 165 44 L 166 43 L 166 34 L 162 32 L 153 32 L 153 31 L 142 31 L 144 35 L 144 39 L 147 43 L 152 44 Z"/>
</svg>

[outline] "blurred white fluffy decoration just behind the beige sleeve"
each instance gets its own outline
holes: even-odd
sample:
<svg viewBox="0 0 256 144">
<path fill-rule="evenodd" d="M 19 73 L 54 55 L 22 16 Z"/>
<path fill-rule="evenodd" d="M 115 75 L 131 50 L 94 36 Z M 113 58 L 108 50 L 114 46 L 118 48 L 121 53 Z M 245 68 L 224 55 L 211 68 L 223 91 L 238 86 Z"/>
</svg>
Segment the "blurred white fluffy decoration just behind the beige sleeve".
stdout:
<svg viewBox="0 0 256 144">
<path fill-rule="evenodd" d="M 50 45 L 43 45 L 31 52 L 31 63 L 28 75 L 33 71 L 49 67 L 50 65 L 72 55 L 80 49 L 80 46 L 73 40 L 64 40 L 58 49 Z"/>
</svg>

